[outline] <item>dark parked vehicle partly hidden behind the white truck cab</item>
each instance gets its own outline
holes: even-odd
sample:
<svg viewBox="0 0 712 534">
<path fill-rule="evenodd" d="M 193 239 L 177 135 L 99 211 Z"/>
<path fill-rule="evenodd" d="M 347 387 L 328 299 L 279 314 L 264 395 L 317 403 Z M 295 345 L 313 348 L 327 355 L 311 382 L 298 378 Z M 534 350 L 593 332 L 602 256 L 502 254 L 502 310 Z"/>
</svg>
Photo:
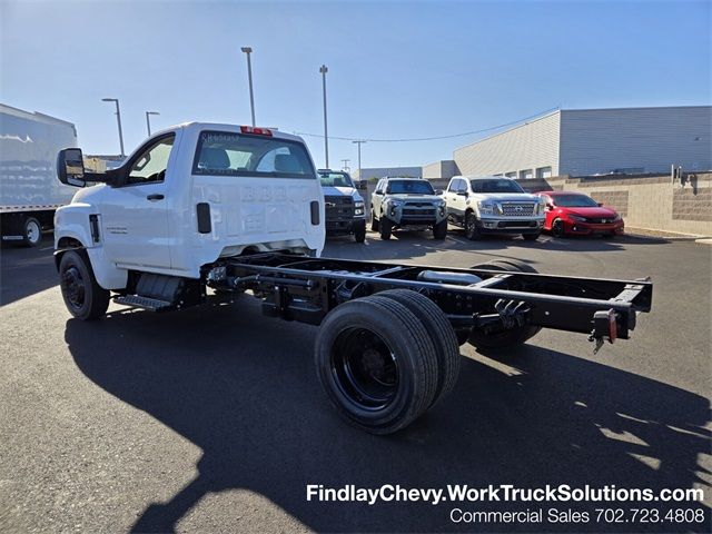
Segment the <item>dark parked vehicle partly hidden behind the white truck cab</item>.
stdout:
<svg viewBox="0 0 712 534">
<path fill-rule="evenodd" d="M 326 207 L 326 235 L 353 235 L 356 243 L 366 239 L 364 198 L 348 172 L 319 169 Z"/>
</svg>

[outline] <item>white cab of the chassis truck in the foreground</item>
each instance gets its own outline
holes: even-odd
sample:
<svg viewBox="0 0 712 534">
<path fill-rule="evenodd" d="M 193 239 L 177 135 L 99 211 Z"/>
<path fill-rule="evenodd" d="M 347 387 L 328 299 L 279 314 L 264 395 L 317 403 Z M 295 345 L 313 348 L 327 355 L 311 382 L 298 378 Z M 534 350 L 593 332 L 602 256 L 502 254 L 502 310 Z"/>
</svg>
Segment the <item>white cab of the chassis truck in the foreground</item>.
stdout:
<svg viewBox="0 0 712 534">
<path fill-rule="evenodd" d="M 81 158 L 60 151 L 60 181 L 102 184 L 57 210 L 57 264 L 80 249 L 103 290 L 130 293 L 131 277 L 149 273 L 199 279 L 221 257 L 324 248 L 324 196 L 299 137 L 190 122 L 154 135 L 106 175 L 85 172 Z"/>
</svg>

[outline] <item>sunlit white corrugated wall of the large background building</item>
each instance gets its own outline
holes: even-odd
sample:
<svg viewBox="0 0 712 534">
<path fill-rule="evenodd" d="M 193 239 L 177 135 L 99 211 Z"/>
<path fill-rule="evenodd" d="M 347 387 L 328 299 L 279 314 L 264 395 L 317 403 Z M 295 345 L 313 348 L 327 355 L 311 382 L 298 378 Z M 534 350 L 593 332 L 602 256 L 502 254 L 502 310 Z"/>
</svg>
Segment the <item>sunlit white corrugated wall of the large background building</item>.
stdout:
<svg viewBox="0 0 712 534">
<path fill-rule="evenodd" d="M 458 148 L 453 159 L 464 176 L 486 176 L 551 167 L 558 174 L 560 111 Z"/>
</svg>

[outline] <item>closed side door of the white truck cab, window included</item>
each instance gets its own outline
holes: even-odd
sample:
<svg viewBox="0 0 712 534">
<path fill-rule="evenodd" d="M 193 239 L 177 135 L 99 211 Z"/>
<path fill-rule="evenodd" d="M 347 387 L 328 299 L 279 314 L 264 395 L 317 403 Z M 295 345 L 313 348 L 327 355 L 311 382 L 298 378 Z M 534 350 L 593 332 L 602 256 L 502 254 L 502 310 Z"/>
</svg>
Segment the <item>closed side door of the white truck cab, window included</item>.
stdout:
<svg viewBox="0 0 712 534">
<path fill-rule="evenodd" d="M 176 134 L 148 141 L 126 162 L 122 182 L 105 191 L 101 228 L 107 257 L 118 267 L 169 269 L 168 185 Z"/>
</svg>

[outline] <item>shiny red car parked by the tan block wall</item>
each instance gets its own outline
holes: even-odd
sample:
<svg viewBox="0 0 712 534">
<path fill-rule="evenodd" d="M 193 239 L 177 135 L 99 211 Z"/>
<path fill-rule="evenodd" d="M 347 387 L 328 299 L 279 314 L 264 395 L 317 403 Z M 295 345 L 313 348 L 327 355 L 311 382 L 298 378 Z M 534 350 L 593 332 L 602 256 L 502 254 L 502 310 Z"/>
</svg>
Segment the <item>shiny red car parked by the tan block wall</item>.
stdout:
<svg viewBox="0 0 712 534">
<path fill-rule="evenodd" d="M 538 194 L 546 201 L 544 230 L 555 237 L 580 234 L 590 236 L 623 234 L 624 222 L 613 208 L 606 208 L 581 192 L 543 191 Z"/>
</svg>

